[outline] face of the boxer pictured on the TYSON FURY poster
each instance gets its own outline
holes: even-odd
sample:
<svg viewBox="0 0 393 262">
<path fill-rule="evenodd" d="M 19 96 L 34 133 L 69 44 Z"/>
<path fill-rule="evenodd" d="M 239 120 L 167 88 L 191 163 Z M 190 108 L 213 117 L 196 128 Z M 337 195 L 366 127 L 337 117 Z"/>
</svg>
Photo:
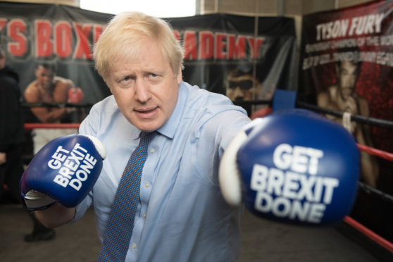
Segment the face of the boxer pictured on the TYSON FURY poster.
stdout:
<svg viewBox="0 0 393 262">
<path fill-rule="evenodd" d="M 339 92 L 344 99 L 353 94 L 358 77 L 358 66 L 350 61 L 342 61 L 339 68 Z"/>
</svg>

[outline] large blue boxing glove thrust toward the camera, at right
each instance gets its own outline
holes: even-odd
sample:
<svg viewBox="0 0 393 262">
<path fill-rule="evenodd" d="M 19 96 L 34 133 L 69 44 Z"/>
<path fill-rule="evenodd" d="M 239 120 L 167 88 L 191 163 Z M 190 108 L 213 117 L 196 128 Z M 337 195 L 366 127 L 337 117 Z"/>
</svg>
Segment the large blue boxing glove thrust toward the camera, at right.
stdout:
<svg viewBox="0 0 393 262">
<path fill-rule="evenodd" d="M 341 125 L 293 109 L 244 127 L 220 162 L 220 188 L 234 206 L 285 223 L 331 225 L 354 205 L 356 141 Z"/>
</svg>

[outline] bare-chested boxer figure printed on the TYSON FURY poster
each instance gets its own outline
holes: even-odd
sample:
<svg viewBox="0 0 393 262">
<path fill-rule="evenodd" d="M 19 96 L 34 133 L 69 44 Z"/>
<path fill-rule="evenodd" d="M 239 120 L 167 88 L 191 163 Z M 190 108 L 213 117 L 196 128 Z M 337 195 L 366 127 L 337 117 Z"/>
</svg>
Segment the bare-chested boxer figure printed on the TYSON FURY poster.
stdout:
<svg viewBox="0 0 393 262">
<path fill-rule="evenodd" d="M 318 106 L 335 111 L 350 113 L 351 115 L 370 116 L 368 102 L 356 92 L 356 81 L 360 73 L 361 64 L 352 61 L 339 61 L 336 64 L 337 83 L 328 87 L 317 96 Z M 345 123 L 343 118 L 327 115 L 328 118 L 344 125 L 356 138 L 359 144 L 373 146 L 369 125 L 361 125 L 352 121 Z M 361 177 L 370 186 L 376 187 L 379 167 L 376 159 L 361 152 Z"/>
</svg>

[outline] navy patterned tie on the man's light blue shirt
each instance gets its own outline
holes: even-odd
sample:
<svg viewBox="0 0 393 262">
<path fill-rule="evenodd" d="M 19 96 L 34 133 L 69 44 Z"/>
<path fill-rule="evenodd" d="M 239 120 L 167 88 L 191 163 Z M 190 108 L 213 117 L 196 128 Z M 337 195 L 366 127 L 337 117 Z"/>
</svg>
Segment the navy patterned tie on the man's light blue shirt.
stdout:
<svg viewBox="0 0 393 262">
<path fill-rule="evenodd" d="M 139 145 L 125 166 L 109 213 L 108 226 L 98 261 L 125 261 L 134 227 L 135 212 L 140 200 L 139 188 L 147 146 L 153 134 L 154 132 L 141 132 Z"/>
</svg>

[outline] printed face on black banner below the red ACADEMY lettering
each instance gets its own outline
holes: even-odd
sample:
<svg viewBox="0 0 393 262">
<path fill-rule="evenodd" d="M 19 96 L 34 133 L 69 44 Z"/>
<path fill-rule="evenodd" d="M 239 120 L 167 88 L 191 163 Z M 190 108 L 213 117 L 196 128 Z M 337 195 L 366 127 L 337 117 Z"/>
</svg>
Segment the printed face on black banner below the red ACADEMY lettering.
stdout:
<svg viewBox="0 0 393 262">
<path fill-rule="evenodd" d="M 226 94 L 232 101 L 254 100 L 254 89 L 254 78 L 252 75 L 228 77 Z"/>
</svg>

